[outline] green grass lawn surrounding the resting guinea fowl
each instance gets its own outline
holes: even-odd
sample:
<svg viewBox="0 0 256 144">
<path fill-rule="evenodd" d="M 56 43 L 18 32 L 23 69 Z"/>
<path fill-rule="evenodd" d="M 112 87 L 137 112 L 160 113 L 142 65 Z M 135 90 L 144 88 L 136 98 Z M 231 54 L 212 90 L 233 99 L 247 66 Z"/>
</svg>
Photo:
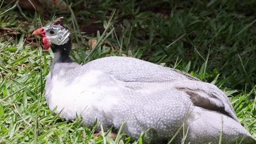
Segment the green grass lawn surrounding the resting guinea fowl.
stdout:
<svg viewBox="0 0 256 144">
<path fill-rule="evenodd" d="M 45 76 L 54 55 L 31 33 L 60 16 L 72 32 L 71 57 L 78 63 L 127 55 L 212 82 L 229 96 L 241 124 L 256 138 L 254 1 L 87 1 L 85 10 L 83 1 L 68 5 L 69 10 L 45 7 L 46 15 L 1 6 L 0 143 L 114 143 L 106 135 L 110 131 L 94 137 L 80 118 L 68 123 L 46 105 Z M 97 39 L 95 49 L 88 39 Z M 119 133 L 115 143 L 130 140 Z"/>
</svg>

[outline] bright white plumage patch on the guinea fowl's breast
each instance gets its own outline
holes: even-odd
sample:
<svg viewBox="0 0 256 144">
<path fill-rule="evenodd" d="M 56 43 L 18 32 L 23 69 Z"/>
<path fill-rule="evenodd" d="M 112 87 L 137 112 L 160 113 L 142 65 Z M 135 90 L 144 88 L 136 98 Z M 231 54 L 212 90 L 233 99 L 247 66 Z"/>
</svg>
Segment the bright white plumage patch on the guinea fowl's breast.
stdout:
<svg viewBox="0 0 256 144">
<path fill-rule="evenodd" d="M 66 119 L 75 119 L 76 115 L 90 112 L 110 112 L 118 104 L 114 97 L 119 88 L 99 70 L 91 70 L 68 79 L 66 71 L 61 71 L 51 79 L 48 105 L 50 110 L 56 107 L 56 113 Z M 102 78 L 104 76 L 104 79 Z"/>
</svg>

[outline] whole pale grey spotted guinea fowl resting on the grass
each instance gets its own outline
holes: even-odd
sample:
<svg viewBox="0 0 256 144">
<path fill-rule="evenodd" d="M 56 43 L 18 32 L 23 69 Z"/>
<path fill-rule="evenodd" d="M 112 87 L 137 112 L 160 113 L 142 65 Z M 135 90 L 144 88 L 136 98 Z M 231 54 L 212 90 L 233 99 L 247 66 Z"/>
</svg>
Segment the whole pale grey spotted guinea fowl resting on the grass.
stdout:
<svg viewBox="0 0 256 144">
<path fill-rule="evenodd" d="M 105 57 L 79 65 L 69 58 L 71 38 L 63 17 L 33 32 L 43 37 L 55 57 L 46 77 L 45 98 L 51 111 L 67 121 L 77 115 L 96 131 L 113 126 L 137 139 L 164 143 L 180 127 L 185 143 L 255 143 L 238 121 L 228 97 L 216 86 L 182 71 L 131 57 Z M 182 126 L 183 125 L 183 126 Z M 181 143 L 179 133 L 174 143 Z"/>
</svg>

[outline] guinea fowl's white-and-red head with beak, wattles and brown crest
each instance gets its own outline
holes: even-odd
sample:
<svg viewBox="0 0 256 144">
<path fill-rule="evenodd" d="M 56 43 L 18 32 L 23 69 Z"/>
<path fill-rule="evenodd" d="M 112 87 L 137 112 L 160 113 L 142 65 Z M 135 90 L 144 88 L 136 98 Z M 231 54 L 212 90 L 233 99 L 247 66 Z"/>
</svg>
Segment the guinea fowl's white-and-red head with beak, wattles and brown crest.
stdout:
<svg viewBox="0 0 256 144">
<path fill-rule="evenodd" d="M 36 31 L 33 32 L 33 35 L 39 35 L 43 38 L 44 49 L 46 50 L 48 50 L 52 44 L 66 44 L 70 39 L 70 33 L 62 24 L 63 17 L 59 17 L 49 26 L 36 29 Z"/>
</svg>

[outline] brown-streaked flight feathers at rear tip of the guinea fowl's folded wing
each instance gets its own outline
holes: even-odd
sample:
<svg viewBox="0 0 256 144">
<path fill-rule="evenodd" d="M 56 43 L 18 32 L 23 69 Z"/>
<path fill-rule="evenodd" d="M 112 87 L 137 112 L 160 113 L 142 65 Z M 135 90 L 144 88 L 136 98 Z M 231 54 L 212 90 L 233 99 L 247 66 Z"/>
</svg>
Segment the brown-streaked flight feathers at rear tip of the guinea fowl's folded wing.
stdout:
<svg viewBox="0 0 256 144">
<path fill-rule="evenodd" d="M 187 93 L 195 106 L 221 112 L 239 122 L 228 97 L 211 83 L 200 81 L 179 81 L 176 89 Z"/>
</svg>

